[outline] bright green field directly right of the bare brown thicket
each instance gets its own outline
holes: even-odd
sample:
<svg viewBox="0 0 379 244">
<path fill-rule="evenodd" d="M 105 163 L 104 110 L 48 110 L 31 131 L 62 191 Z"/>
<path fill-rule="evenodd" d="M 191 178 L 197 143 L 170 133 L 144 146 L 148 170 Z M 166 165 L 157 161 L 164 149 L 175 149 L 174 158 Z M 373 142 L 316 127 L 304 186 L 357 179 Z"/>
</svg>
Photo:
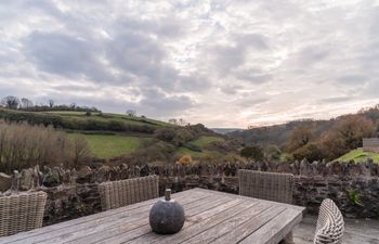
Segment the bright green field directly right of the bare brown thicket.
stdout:
<svg viewBox="0 0 379 244">
<path fill-rule="evenodd" d="M 138 150 L 144 140 L 140 137 L 126 137 L 119 134 L 79 134 L 68 133 L 70 138 L 84 137 L 91 153 L 99 158 L 109 159 L 113 157 L 128 155 Z"/>
</svg>

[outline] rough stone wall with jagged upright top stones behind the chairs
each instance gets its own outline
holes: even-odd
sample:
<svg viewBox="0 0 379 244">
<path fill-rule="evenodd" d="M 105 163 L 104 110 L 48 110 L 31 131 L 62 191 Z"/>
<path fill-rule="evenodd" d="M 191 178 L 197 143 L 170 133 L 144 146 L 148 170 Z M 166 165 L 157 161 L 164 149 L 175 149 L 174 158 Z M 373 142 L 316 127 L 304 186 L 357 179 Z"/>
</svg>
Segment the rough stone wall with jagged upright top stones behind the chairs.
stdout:
<svg viewBox="0 0 379 244">
<path fill-rule="evenodd" d="M 293 164 L 250 163 L 218 166 L 121 165 L 114 168 L 82 168 L 79 171 L 60 167 L 39 170 L 37 167 L 14 176 L 13 181 L 18 178 L 19 184 L 15 187 L 13 183 L 13 188 L 45 191 L 49 198 L 44 224 L 52 224 L 101 211 L 97 192 L 100 182 L 156 174 L 160 177 L 161 194 L 165 188 L 171 188 L 174 192 L 204 188 L 237 194 L 238 168 L 292 172 L 296 179 L 293 203 L 305 206 L 311 214 L 317 214 L 321 202 L 329 197 L 347 217 L 379 218 L 379 165 L 371 160 L 358 165 L 338 162 L 310 164 L 305 160 Z"/>
</svg>

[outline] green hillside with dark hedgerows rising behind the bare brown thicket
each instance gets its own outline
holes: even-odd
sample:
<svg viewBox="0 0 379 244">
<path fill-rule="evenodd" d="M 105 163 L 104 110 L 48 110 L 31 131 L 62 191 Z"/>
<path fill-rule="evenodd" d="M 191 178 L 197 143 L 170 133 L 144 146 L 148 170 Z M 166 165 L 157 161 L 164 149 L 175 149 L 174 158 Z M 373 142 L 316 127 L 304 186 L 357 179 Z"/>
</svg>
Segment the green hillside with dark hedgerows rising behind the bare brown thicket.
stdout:
<svg viewBox="0 0 379 244">
<path fill-rule="evenodd" d="M 204 157 L 231 152 L 223 152 L 222 146 L 227 142 L 222 136 L 202 125 L 180 127 L 146 117 L 99 111 L 26 112 L 3 107 L 0 107 L 1 118 L 51 125 L 66 131 L 69 138 L 84 137 L 92 155 L 101 159 L 125 156 L 134 163 L 174 162 L 183 155 Z"/>
</svg>

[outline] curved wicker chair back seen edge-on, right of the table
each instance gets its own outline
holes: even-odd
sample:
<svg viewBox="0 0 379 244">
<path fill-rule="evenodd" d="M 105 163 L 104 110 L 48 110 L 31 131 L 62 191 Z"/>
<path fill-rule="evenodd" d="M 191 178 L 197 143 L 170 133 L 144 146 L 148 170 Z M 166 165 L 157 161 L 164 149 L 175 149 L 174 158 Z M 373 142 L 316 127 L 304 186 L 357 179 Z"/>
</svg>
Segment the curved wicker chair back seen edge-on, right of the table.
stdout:
<svg viewBox="0 0 379 244">
<path fill-rule="evenodd" d="M 324 200 L 319 207 L 314 244 L 342 243 L 344 231 L 343 217 L 331 200 Z"/>
</svg>

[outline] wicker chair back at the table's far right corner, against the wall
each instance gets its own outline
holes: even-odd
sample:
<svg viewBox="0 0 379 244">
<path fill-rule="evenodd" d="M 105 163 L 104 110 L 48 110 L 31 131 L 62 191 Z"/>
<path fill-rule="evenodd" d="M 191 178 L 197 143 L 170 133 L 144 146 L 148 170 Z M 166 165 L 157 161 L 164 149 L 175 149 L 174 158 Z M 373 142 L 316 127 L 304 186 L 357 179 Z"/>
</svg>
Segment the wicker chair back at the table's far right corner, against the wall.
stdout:
<svg viewBox="0 0 379 244">
<path fill-rule="evenodd" d="M 238 170 L 239 195 L 292 203 L 293 175 Z"/>
</svg>

